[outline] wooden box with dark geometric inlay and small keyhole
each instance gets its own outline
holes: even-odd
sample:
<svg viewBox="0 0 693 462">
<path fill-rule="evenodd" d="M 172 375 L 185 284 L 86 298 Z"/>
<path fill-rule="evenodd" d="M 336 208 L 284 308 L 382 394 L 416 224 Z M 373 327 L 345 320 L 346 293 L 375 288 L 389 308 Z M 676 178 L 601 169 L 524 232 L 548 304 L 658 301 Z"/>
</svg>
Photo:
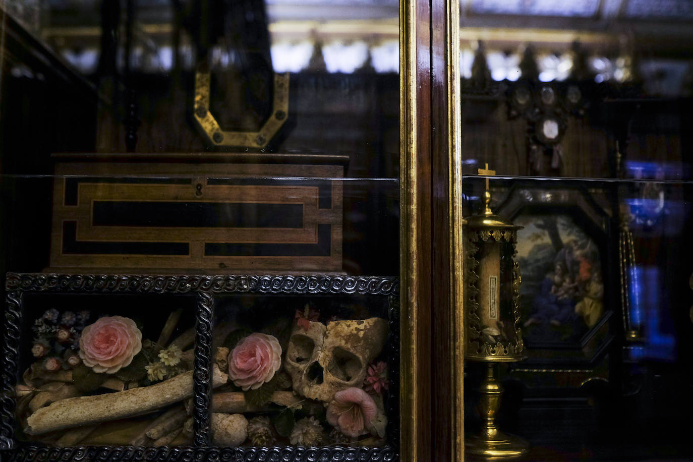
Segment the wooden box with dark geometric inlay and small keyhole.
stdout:
<svg viewBox="0 0 693 462">
<path fill-rule="evenodd" d="M 63 155 L 49 270 L 340 272 L 344 161 Z"/>
</svg>

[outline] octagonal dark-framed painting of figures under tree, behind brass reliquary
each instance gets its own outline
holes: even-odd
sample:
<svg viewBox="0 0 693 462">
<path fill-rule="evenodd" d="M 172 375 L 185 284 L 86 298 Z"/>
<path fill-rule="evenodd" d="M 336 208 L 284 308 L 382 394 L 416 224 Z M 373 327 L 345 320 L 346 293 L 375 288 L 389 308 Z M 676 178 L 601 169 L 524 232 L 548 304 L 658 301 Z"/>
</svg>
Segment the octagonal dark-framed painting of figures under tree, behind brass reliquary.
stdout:
<svg viewBox="0 0 693 462">
<path fill-rule="evenodd" d="M 525 395 L 606 384 L 617 361 L 620 278 L 610 190 L 516 181 L 498 215 L 518 230 L 520 327 L 527 359 L 509 367 Z"/>
</svg>

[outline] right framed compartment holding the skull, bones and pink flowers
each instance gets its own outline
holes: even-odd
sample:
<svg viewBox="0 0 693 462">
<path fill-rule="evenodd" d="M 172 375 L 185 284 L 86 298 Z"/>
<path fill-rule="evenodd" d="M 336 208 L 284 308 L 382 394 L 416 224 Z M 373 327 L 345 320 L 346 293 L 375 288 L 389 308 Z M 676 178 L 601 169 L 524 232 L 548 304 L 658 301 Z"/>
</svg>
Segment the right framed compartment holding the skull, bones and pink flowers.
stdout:
<svg viewBox="0 0 693 462">
<path fill-rule="evenodd" d="M 375 291 L 328 297 L 296 292 L 218 299 L 215 366 L 229 374 L 229 383 L 213 390 L 216 445 L 243 443 L 243 435 L 225 431 L 228 414 L 247 419 L 250 446 L 393 445 L 394 301 Z"/>
</svg>

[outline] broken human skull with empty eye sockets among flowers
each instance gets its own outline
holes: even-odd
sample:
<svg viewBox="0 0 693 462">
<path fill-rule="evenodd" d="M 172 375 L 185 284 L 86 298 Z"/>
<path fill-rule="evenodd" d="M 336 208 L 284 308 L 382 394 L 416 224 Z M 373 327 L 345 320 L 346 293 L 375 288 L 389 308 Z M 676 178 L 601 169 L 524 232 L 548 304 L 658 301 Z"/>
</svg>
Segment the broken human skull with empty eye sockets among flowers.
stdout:
<svg viewBox="0 0 693 462">
<path fill-rule="evenodd" d="M 294 326 L 284 368 L 294 390 L 306 398 L 328 402 L 337 391 L 360 387 L 366 368 L 380 354 L 387 337 L 387 321 L 310 321 L 308 330 Z"/>
</svg>

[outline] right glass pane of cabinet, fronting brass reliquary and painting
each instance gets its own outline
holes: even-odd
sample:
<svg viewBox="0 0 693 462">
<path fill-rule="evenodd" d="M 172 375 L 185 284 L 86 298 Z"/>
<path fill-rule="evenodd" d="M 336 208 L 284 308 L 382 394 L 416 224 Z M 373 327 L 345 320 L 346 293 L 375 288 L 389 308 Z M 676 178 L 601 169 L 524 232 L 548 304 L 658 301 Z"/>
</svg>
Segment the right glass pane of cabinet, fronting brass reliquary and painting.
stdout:
<svg viewBox="0 0 693 462">
<path fill-rule="evenodd" d="M 655 3 L 463 7 L 465 460 L 690 457 L 690 19 Z"/>
</svg>

